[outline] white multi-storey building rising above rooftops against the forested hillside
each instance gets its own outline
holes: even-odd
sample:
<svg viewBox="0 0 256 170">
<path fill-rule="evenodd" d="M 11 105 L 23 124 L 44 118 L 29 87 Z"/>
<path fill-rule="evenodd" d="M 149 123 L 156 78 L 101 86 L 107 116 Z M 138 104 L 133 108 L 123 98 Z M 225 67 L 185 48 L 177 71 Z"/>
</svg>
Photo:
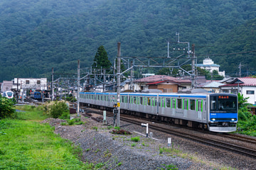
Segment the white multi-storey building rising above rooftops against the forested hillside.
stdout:
<svg viewBox="0 0 256 170">
<path fill-rule="evenodd" d="M 213 60 L 211 60 L 209 57 L 203 60 L 203 64 L 197 64 L 197 67 L 200 67 L 201 69 L 206 69 L 210 73 L 213 73 L 213 70 L 216 70 L 220 76 L 225 77 L 225 71 L 220 72 L 220 65 L 214 64 Z"/>
</svg>

